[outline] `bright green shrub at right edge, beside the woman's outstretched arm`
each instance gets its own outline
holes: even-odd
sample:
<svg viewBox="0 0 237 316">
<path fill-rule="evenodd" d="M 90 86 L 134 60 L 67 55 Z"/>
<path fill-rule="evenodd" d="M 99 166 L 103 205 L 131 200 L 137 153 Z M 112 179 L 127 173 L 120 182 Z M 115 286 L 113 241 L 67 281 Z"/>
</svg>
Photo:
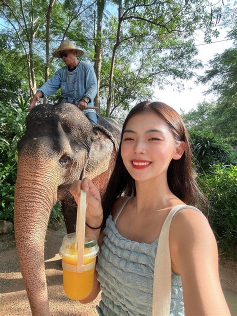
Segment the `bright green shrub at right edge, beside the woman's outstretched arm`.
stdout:
<svg viewBox="0 0 237 316">
<path fill-rule="evenodd" d="M 219 247 L 233 256 L 237 242 L 237 166 L 213 165 L 208 174 L 199 177 L 199 185 L 213 208 L 208 220 Z"/>
</svg>

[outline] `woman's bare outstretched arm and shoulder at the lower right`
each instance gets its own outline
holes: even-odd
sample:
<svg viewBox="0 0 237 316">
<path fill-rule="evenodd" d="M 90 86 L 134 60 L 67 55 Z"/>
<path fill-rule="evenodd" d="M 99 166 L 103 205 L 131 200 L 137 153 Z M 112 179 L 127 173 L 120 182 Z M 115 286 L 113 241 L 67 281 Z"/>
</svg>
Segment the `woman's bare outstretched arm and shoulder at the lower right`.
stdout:
<svg viewBox="0 0 237 316">
<path fill-rule="evenodd" d="M 220 286 L 218 252 L 205 216 L 183 209 L 169 232 L 172 270 L 181 275 L 185 316 L 230 315 Z"/>
</svg>

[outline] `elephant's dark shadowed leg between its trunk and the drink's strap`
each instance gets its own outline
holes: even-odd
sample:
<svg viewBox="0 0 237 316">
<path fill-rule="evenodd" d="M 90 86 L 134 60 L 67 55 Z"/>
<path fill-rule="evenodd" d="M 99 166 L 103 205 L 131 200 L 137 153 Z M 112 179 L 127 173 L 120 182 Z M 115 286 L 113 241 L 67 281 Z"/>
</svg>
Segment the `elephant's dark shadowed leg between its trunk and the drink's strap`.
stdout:
<svg viewBox="0 0 237 316">
<path fill-rule="evenodd" d="M 72 196 L 61 201 L 61 210 L 66 225 L 66 232 L 75 232 L 77 205 Z"/>
</svg>

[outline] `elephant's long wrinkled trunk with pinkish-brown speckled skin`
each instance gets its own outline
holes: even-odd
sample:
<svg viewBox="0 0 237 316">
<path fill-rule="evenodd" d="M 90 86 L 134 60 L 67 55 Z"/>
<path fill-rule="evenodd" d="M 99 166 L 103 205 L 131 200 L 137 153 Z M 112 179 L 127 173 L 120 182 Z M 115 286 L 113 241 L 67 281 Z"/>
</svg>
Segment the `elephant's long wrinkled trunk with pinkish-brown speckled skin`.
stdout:
<svg viewBox="0 0 237 316">
<path fill-rule="evenodd" d="M 33 158 L 32 158 L 33 159 Z M 53 161 L 18 158 L 14 201 L 16 249 L 33 315 L 49 315 L 44 272 L 44 240 L 56 201 L 58 172 Z"/>
</svg>

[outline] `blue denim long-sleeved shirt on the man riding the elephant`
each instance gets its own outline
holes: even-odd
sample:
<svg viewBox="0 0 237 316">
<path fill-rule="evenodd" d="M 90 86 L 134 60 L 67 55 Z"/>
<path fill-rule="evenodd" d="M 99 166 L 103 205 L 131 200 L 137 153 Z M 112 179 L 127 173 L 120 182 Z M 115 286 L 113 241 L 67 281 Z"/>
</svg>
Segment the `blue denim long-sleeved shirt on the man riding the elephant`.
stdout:
<svg viewBox="0 0 237 316">
<path fill-rule="evenodd" d="M 97 93 L 97 79 L 94 69 L 87 63 L 80 61 L 73 71 L 68 71 L 67 66 L 58 69 L 39 89 L 43 96 L 53 95 L 61 88 L 62 103 L 77 104 L 83 96 L 90 98 L 88 105 L 93 106 Z M 84 113 L 95 112 L 95 109 L 85 109 Z"/>
</svg>

